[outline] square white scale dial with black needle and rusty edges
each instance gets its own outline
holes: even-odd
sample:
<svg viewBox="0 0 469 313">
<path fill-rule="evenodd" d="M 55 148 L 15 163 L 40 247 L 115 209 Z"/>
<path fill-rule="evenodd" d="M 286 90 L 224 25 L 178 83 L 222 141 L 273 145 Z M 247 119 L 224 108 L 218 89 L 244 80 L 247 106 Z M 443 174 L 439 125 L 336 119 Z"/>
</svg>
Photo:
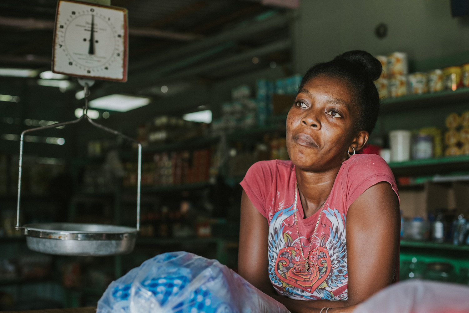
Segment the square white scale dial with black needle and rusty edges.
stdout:
<svg viewBox="0 0 469 313">
<path fill-rule="evenodd" d="M 54 73 L 127 81 L 127 9 L 60 0 L 55 18 Z"/>
</svg>

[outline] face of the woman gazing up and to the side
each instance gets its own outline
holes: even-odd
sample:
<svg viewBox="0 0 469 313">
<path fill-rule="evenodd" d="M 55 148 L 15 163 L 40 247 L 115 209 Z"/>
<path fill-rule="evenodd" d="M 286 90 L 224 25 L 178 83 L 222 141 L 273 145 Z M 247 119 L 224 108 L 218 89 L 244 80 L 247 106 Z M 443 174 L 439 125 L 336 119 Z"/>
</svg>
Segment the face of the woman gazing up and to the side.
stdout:
<svg viewBox="0 0 469 313">
<path fill-rule="evenodd" d="M 325 171 L 347 158 L 356 109 L 344 81 L 324 75 L 308 81 L 287 116 L 287 150 L 298 168 Z"/>
</svg>

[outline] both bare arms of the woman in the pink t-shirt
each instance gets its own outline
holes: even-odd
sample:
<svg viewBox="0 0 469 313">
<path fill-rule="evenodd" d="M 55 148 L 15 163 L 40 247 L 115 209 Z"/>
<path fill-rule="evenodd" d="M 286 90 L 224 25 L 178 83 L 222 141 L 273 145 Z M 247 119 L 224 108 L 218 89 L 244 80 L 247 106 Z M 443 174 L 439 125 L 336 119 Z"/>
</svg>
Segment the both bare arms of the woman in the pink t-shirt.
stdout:
<svg viewBox="0 0 469 313">
<path fill-rule="evenodd" d="M 352 312 L 355 305 L 392 282 L 399 246 L 399 201 L 391 185 L 377 183 L 349 207 L 346 220 L 348 300 L 293 300 L 279 296 L 268 275 L 268 224 L 245 192 L 241 200 L 239 274 L 292 313 Z M 324 312 L 324 311 L 323 311 Z"/>
</svg>

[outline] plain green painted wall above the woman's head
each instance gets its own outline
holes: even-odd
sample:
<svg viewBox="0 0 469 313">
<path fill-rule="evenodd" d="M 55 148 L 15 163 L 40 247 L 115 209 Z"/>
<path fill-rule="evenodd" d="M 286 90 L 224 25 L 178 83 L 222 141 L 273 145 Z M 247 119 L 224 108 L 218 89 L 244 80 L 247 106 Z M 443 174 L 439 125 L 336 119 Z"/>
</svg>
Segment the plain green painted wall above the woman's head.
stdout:
<svg viewBox="0 0 469 313">
<path fill-rule="evenodd" d="M 379 23 L 389 27 L 384 39 L 374 35 Z M 451 17 L 448 0 L 303 0 L 294 28 L 295 68 L 300 73 L 353 49 L 402 51 L 419 62 L 469 51 L 469 18 Z M 469 62 L 469 53 L 457 61 L 462 60 Z M 426 70 L 446 64 L 419 65 L 417 69 Z"/>
</svg>

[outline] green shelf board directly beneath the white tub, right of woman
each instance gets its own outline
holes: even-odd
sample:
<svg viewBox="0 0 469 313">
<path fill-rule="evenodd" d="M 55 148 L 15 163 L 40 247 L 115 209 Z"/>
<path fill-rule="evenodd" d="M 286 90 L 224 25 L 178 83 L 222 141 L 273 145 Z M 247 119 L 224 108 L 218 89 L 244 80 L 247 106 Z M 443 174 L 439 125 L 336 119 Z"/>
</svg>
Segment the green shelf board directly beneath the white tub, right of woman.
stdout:
<svg viewBox="0 0 469 313">
<path fill-rule="evenodd" d="M 469 155 L 391 162 L 389 167 L 395 176 L 423 176 L 443 174 L 469 169 Z"/>
</svg>

